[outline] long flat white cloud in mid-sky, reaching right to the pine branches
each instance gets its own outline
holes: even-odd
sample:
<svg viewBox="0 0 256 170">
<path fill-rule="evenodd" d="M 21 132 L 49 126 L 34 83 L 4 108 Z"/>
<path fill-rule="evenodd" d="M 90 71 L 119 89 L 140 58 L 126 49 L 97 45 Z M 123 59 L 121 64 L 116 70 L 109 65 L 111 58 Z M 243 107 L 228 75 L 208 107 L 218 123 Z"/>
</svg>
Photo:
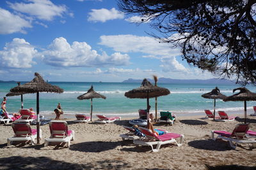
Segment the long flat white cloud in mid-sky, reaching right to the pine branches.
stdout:
<svg viewBox="0 0 256 170">
<path fill-rule="evenodd" d="M 156 56 L 179 56 L 180 49 L 172 49 L 168 43 L 159 43 L 150 36 L 103 35 L 100 45 L 106 45 L 118 52 L 143 52 Z"/>
</svg>

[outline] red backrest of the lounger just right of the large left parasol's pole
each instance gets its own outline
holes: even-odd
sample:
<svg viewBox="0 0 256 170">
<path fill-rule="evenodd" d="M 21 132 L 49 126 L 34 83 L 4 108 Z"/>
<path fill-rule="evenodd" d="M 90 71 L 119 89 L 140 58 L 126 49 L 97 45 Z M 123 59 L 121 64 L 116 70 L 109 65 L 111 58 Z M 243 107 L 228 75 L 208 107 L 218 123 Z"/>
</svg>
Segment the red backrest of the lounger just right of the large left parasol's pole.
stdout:
<svg viewBox="0 0 256 170">
<path fill-rule="evenodd" d="M 65 137 L 68 135 L 68 123 L 66 121 L 50 121 L 49 127 L 52 137 Z"/>
</svg>

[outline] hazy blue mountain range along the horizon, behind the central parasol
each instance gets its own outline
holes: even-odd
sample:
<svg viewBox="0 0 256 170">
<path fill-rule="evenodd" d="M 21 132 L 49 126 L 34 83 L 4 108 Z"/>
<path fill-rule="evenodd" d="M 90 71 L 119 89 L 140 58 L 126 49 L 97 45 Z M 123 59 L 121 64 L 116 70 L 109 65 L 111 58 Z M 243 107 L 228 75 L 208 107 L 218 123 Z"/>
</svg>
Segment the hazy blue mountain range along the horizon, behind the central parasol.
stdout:
<svg viewBox="0 0 256 170">
<path fill-rule="evenodd" d="M 128 79 L 123 82 L 142 82 L 141 79 Z M 153 79 L 148 79 L 148 81 L 154 83 Z M 159 83 L 200 83 L 200 84 L 235 84 L 235 82 L 228 81 L 225 79 L 169 79 L 161 77 L 158 79 Z"/>
</svg>

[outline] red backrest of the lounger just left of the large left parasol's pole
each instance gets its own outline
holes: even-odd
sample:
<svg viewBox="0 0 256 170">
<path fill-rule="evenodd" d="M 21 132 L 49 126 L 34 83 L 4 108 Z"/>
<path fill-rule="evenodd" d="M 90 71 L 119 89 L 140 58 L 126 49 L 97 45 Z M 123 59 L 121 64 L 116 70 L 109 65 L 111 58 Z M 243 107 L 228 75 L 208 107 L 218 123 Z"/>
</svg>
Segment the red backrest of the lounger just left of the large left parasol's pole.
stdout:
<svg viewBox="0 0 256 170">
<path fill-rule="evenodd" d="M 32 130 L 29 123 L 12 123 L 12 129 L 15 136 L 31 135 Z"/>
</svg>

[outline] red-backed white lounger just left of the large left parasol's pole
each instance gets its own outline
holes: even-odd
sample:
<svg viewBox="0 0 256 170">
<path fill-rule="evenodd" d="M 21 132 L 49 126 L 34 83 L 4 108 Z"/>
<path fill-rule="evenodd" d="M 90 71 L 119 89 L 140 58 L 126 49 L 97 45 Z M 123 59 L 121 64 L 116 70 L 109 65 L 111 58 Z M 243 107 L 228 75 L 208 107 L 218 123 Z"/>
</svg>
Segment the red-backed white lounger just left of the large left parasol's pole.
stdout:
<svg viewBox="0 0 256 170">
<path fill-rule="evenodd" d="M 27 122 L 12 123 L 12 129 L 15 135 L 7 139 L 7 146 L 10 146 L 13 141 L 30 141 L 35 144 L 36 129 L 30 127 Z M 40 129 L 40 138 L 42 137 L 42 130 Z"/>
</svg>

